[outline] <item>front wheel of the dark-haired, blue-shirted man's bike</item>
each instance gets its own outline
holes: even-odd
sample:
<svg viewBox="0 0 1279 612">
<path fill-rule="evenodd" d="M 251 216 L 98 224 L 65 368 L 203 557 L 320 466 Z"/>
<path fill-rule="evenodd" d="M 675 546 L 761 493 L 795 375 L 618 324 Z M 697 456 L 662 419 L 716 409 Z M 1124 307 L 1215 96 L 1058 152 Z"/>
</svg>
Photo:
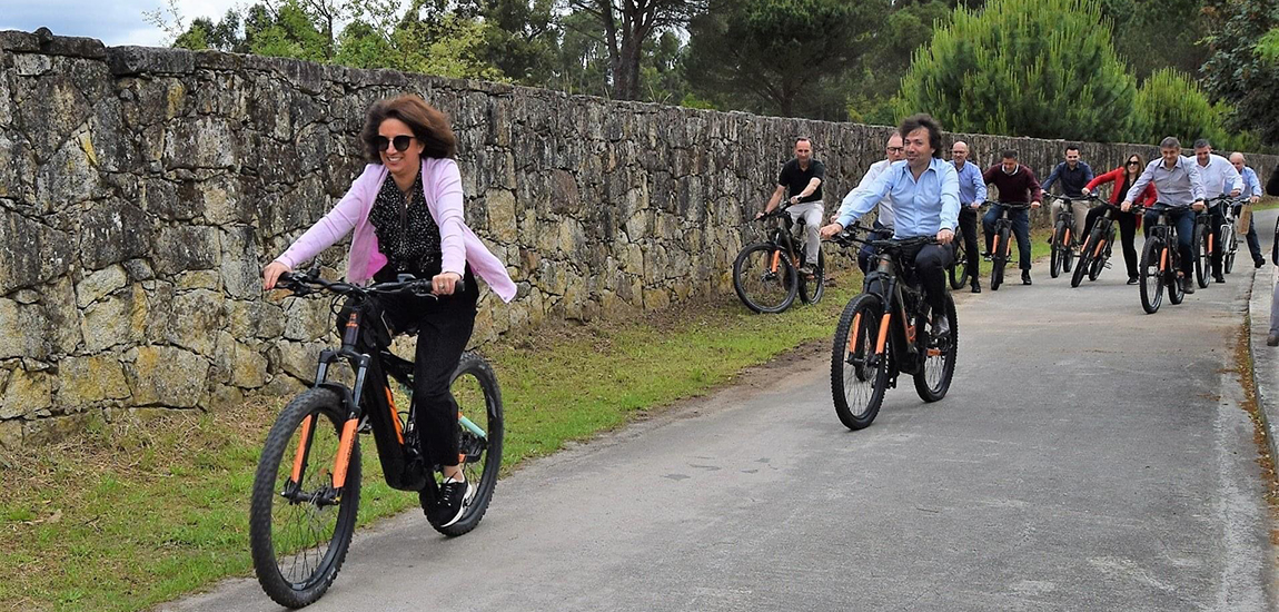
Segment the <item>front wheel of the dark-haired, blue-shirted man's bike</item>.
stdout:
<svg viewBox="0 0 1279 612">
<path fill-rule="evenodd" d="M 889 341 L 876 353 L 884 305 L 879 296 L 862 293 L 844 306 L 830 351 L 830 393 L 835 415 L 848 429 L 868 426 L 888 389 Z"/>
</svg>

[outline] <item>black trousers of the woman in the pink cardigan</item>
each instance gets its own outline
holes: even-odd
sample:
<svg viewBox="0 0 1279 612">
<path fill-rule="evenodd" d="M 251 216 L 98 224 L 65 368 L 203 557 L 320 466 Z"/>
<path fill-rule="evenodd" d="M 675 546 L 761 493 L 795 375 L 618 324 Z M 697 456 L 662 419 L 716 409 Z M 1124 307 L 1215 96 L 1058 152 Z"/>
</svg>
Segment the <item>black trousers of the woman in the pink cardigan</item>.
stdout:
<svg viewBox="0 0 1279 612">
<path fill-rule="evenodd" d="M 361 309 L 361 351 L 375 351 L 390 338 L 417 330 L 413 358 L 413 403 L 409 415 L 427 465 L 458 465 L 458 402 L 449 391 L 449 378 L 475 330 L 480 287 L 467 269 L 451 296 L 380 296 Z M 338 315 L 338 332 L 350 316 L 350 302 Z M 389 329 L 388 329 L 389 328 Z"/>
</svg>

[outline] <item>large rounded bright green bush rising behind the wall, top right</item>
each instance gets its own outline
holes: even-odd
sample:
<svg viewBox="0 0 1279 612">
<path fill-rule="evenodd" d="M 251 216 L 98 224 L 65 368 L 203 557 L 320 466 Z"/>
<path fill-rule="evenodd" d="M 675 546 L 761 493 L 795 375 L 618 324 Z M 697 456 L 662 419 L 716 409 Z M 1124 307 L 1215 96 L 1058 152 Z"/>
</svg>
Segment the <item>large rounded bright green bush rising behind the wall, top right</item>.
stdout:
<svg viewBox="0 0 1279 612">
<path fill-rule="evenodd" d="M 914 52 L 898 114 L 946 129 L 1114 142 L 1132 136 L 1136 78 L 1099 0 L 993 0 L 955 9 Z"/>
</svg>

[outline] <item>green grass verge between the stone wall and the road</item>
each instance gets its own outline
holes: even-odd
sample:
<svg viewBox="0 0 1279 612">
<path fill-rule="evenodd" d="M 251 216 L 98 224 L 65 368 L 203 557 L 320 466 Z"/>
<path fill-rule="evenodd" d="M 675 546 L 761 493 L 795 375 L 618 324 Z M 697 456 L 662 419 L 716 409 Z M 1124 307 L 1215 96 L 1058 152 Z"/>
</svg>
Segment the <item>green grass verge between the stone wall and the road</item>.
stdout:
<svg viewBox="0 0 1279 612">
<path fill-rule="evenodd" d="M 781 315 L 752 315 L 726 296 L 625 323 L 544 326 L 533 339 L 490 347 L 506 402 L 504 463 L 555 452 L 826 338 L 859 287 L 859 275 L 845 275 L 817 306 Z M 248 495 L 281 407 L 262 401 L 98 423 L 56 446 L 0 455 L 0 607 L 134 611 L 248 575 Z M 365 442 L 361 525 L 417 504 L 386 487 Z"/>
</svg>

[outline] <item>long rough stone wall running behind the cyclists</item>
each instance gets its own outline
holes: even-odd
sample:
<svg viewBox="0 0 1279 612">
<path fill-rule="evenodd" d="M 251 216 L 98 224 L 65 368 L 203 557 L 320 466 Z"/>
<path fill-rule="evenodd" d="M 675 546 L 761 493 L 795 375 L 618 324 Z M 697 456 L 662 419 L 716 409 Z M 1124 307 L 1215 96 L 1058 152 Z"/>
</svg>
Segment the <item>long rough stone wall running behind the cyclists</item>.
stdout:
<svg viewBox="0 0 1279 612">
<path fill-rule="evenodd" d="M 468 223 L 519 284 L 510 305 L 485 292 L 477 343 L 730 292 L 793 137 L 813 138 L 833 209 L 889 133 L 0 32 L 0 444 L 297 391 L 330 301 L 265 296 L 260 269 L 363 168 L 368 104 L 405 91 L 451 117 Z M 978 163 L 1010 146 L 1040 170 L 1062 149 L 964 140 Z M 1134 149 L 1154 152 L 1083 155 L 1111 168 Z M 330 273 L 344 252 L 321 256 Z"/>
</svg>

